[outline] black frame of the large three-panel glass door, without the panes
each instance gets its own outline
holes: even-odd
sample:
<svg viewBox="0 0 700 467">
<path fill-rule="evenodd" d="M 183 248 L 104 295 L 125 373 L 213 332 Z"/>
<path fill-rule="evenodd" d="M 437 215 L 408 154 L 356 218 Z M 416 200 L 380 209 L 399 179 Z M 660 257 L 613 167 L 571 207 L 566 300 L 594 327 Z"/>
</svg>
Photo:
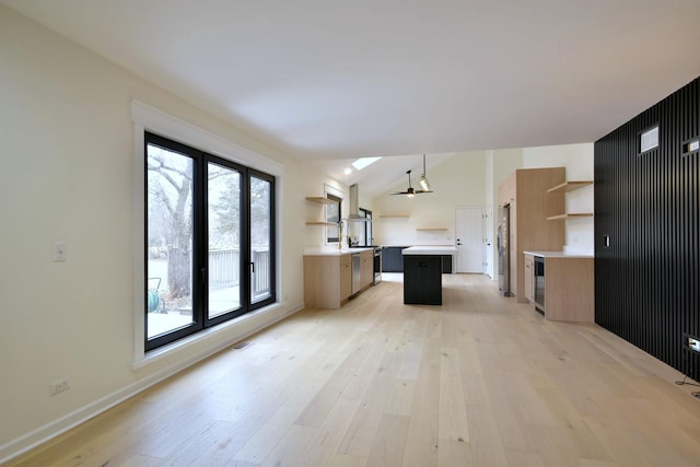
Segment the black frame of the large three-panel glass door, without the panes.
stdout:
<svg viewBox="0 0 700 467">
<path fill-rule="evenodd" d="M 148 171 L 148 147 L 156 145 L 168 151 L 182 153 L 192 160 L 192 270 L 191 270 L 191 300 L 192 300 L 192 323 L 176 330 L 155 336 L 151 339 L 148 337 L 148 235 L 149 235 L 149 209 L 148 209 L 148 190 L 149 190 L 149 171 Z M 175 342 L 183 338 L 192 336 L 202 330 L 212 328 L 222 323 L 229 322 L 253 311 L 268 306 L 277 301 L 277 235 L 276 235 L 276 212 L 277 197 L 276 187 L 277 179 L 273 175 L 267 174 L 259 170 L 247 167 L 224 157 L 210 154 L 206 151 L 198 150 L 188 144 L 175 141 L 171 138 L 156 135 L 151 131 L 144 131 L 143 141 L 143 166 L 144 166 L 144 188 L 143 199 L 145 209 L 143 212 L 143 235 L 144 242 L 144 303 L 143 319 L 144 332 L 143 345 L 144 350 L 151 351 L 165 345 Z M 241 173 L 241 260 L 240 260 L 240 290 L 241 306 L 237 310 L 209 318 L 209 288 L 208 288 L 208 164 L 212 163 Z M 250 283 L 250 202 L 249 202 L 249 180 L 255 176 L 270 183 L 270 229 L 269 229 L 269 247 L 270 247 L 270 269 L 269 269 L 269 288 L 270 295 L 258 302 L 252 302 Z"/>
</svg>

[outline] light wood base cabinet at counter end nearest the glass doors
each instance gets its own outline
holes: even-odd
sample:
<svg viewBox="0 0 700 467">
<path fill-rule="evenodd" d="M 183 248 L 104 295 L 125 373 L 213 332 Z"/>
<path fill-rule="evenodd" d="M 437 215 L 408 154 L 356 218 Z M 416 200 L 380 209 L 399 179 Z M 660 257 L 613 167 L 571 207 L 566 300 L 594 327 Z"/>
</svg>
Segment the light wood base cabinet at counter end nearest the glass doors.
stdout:
<svg viewBox="0 0 700 467">
<path fill-rule="evenodd" d="M 350 255 L 304 256 L 304 304 L 310 308 L 339 308 L 352 293 Z"/>
</svg>

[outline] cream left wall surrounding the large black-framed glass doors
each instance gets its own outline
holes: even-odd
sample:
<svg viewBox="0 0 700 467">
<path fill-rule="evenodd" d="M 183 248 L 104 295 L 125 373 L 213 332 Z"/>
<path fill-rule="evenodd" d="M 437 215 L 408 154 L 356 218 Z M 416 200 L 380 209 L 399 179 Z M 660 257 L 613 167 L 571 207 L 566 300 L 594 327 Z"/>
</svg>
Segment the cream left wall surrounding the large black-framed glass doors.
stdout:
<svg viewBox="0 0 700 467">
<path fill-rule="evenodd" d="M 323 177 L 175 95 L 0 7 L 0 463 L 303 304 L 306 186 Z M 133 369 L 132 100 L 283 167 L 272 312 Z M 136 194 L 136 199 L 140 198 Z M 138 235 L 138 234 L 137 234 Z M 52 261 L 52 244 L 68 260 Z M 71 388 L 49 396 L 48 384 Z"/>
</svg>

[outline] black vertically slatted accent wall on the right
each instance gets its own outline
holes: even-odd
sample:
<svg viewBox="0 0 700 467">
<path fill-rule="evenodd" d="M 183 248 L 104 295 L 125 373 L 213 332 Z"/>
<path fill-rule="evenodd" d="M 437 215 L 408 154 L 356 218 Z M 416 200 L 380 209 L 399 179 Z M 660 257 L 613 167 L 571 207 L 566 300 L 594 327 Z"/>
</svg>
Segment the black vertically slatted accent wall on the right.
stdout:
<svg viewBox="0 0 700 467">
<path fill-rule="evenodd" d="M 658 148 L 639 153 L 658 125 Z M 700 380 L 700 79 L 595 143 L 595 319 Z M 604 238 L 609 235 L 609 247 Z"/>
</svg>

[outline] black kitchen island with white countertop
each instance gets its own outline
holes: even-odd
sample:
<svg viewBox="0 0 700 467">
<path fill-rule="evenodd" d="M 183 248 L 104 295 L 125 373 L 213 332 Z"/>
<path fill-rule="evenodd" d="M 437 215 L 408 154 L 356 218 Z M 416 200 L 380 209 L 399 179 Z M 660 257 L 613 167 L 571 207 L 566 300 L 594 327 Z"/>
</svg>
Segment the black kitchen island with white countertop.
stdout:
<svg viewBox="0 0 700 467">
<path fill-rule="evenodd" d="M 454 246 L 411 246 L 404 256 L 404 303 L 442 305 L 442 258 L 455 255 Z"/>
</svg>

